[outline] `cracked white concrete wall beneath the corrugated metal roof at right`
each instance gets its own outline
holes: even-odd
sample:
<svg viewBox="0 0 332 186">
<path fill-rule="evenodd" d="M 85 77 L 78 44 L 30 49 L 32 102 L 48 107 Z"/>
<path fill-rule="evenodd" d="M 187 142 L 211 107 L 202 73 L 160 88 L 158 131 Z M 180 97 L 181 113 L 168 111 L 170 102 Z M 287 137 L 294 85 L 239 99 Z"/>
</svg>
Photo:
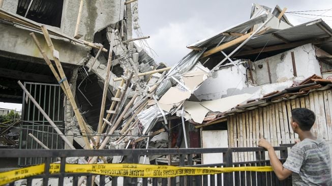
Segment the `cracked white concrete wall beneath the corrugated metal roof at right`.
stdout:
<svg viewBox="0 0 332 186">
<path fill-rule="evenodd" d="M 291 52 L 294 52 L 297 77 L 293 76 Z M 271 81 L 269 84 L 266 59 L 269 61 Z M 283 90 L 292 85 L 293 80 L 301 81 L 313 74 L 321 75 L 319 62 L 316 59 L 312 44 L 303 45 L 286 52 L 255 61 L 253 79 L 255 84 L 247 83 L 247 77 L 238 72 L 234 66 L 223 67 L 216 71 L 212 77 L 206 79 L 194 92 L 199 100 L 216 100 L 238 94 L 253 94 L 255 98 L 275 91 Z M 260 69 L 258 65 L 263 65 Z M 247 73 L 243 65 L 238 66 L 242 72 Z"/>
</svg>

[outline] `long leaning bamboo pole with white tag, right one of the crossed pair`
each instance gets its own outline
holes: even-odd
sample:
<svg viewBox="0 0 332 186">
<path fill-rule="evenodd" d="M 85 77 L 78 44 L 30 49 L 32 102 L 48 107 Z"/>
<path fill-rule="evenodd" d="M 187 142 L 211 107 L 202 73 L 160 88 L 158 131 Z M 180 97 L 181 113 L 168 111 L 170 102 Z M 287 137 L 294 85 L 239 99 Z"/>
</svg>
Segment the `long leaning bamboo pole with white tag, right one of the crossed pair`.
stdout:
<svg viewBox="0 0 332 186">
<path fill-rule="evenodd" d="M 47 31 L 46 27 L 44 25 L 42 25 L 41 29 L 43 31 L 43 34 L 44 34 L 44 37 L 45 37 L 45 40 L 47 42 L 48 47 L 50 48 L 50 50 L 52 51 L 52 53 L 54 53 L 54 51 L 55 51 L 54 45 L 52 43 L 51 38 L 49 37 L 49 34 L 48 34 L 48 31 Z M 81 133 L 83 135 L 83 140 L 85 142 L 85 145 L 87 146 L 87 148 L 90 148 L 90 143 L 89 143 L 89 140 L 87 139 L 86 129 L 85 129 L 85 125 L 84 125 L 84 122 L 83 122 L 83 118 L 82 118 L 81 113 L 79 112 L 79 110 L 77 108 L 77 105 L 76 105 L 73 93 L 72 93 L 72 91 L 70 89 L 67 77 L 65 75 L 65 72 L 64 72 L 64 70 L 63 70 L 63 68 L 61 66 L 61 63 L 60 63 L 59 59 L 56 58 L 54 55 L 53 55 L 53 59 L 54 59 L 57 71 L 59 72 L 60 77 L 62 78 L 61 81 L 63 81 L 62 83 L 59 81 L 59 84 L 64 84 L 64 86 L 65 86 L 65 89 L 67 91 L 68 99 L 69 99 L 69 101 L 70 101 L 70 103 L 71 103 L 71 105 L 73 107 L 74 113 L 76 115 L 76 118 L 77 118 L 77 121 L 78 121 L 78 125 L 79 125 Z"/>
</svg>

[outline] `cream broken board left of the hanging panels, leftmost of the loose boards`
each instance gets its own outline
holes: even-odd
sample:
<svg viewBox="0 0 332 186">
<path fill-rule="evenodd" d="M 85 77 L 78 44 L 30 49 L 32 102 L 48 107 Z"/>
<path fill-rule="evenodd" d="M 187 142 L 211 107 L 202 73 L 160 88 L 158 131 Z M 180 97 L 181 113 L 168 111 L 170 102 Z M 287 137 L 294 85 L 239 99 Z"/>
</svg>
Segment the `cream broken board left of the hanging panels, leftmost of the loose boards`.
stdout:
<svg viewBox="0 0 332 186">
<path fill-rule="evenodd" d="M 170 87 L 163 97 L 159 100 L 160 104 L 174 104 L 186 100 L 190 97 L 191 93 L 188 91 L 182 91 L 175 87 Z"/>
</svg>

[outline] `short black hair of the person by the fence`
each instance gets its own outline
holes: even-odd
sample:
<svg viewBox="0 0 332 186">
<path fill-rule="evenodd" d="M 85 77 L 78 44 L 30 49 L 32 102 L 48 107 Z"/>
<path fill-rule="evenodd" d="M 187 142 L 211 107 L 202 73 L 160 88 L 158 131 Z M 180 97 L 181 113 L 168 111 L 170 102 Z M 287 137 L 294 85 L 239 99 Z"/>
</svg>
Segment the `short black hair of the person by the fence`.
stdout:
<svg viewBox="0 0 332 186">
<path fill-rule="evenodd" d="M 310 131 L 315 123 L 315 113 L 307 108 L 296 108 L 292 110 L 292 119 L 297 122 L 303 131 Z"/>
</svg>

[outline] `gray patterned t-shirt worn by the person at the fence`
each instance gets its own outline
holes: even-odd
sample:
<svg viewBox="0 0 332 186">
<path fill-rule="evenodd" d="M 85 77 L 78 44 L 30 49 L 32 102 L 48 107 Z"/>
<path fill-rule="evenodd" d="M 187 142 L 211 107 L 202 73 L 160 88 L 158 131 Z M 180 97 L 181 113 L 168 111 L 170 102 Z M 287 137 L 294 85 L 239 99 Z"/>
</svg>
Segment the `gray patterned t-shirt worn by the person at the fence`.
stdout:
<svg viewBox="0 0 332 186">
<path fill-rule="evenodd" d="M 323 139 L 295 144 L 283 166 L 293 172 L 293 185 L 332 185 L 329 148 Z"/>
</svg>

